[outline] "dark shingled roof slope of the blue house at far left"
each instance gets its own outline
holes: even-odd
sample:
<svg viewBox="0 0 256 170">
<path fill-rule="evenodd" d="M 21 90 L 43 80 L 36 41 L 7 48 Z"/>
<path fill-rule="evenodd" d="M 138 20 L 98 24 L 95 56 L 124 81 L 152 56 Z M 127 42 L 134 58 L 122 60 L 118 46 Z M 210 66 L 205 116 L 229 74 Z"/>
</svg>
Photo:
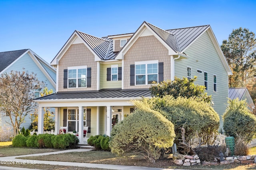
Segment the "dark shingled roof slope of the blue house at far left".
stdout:
<svg viewBox="0 0 256 170">
<path fill-rule="evenodd" d="M 0 52 L 0 72 L 18 59 L 28 49 Z"/>
</svg>

